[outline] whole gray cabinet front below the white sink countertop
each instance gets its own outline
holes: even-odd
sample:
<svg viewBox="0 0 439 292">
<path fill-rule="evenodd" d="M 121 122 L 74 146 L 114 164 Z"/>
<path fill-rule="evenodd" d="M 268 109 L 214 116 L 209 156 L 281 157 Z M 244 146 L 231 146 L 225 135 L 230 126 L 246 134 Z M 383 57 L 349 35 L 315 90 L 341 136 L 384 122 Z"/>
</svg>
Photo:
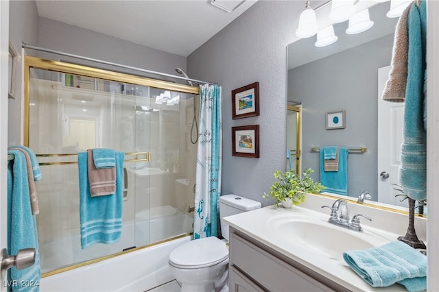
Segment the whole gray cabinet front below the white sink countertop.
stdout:
<svg viewBox="0 0 439 292">
<path fill-rule="evenodd" d="M 349 291 L 235 228 L 228 279 L 230 291 Z"/>
</svg>

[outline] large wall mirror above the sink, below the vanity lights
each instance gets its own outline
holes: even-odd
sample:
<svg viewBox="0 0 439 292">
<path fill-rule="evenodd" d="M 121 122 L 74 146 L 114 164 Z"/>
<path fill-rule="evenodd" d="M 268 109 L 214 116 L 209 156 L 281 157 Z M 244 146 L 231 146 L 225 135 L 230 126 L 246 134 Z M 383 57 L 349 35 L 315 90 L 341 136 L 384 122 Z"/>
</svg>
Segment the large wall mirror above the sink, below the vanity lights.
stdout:
<svg viewBox="0 0 439 292">
<path fill-rule="evenodd" d="M 330 6 L 319 8 L 317 17 L 329 13 Z M 348 195 L 357 198 L 368 191 L 372 201 L 407 207 L 407 200 L 400 202 L 393 190 L 393 184 L 399 182 L 397 164 L 402 132 L 394 125 L 399 118 L 382 122 L 378 114 L 398 21 L 385 15 L 389 10 L 389 1 L 374 3 L 369 8 L 374 25 L 360 34 L 346 34 L 348 21 L 336 23 L 334 30 L 338 40 L 327 47 L 316 47 L 316 36 L 290 44 L 287 47 L 287 99 L 302 105 L 302 169 L 311 167 L 315 170 L 313 178 L 320 180 L 320 155 L 315 148 L 366 148 L 367 151 L 348 154 Z M 401 112 L 401 106 L 403 108 L 403 104 L 399 104 L 396 111 Z M 345 127 L 328 130 L 327 113 L 342 111 Z M 393 137 L 391 142 L 384 142 L 390 148 L 384 154 L 392 158 L 390 167 L 396 165 L 392 173 L 378 162 L 383 155 L 379 147 L 383 144 L 379 137 L 383 135 Z M 384 171 L 390 173 L 388 178 L 381 178 Z"/>
</svg>

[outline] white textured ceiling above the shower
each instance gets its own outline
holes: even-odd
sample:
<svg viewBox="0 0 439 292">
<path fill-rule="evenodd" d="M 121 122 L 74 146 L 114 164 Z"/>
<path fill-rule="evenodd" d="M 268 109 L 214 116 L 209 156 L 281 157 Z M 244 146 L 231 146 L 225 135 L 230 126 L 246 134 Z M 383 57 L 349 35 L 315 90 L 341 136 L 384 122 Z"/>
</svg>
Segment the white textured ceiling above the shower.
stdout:
<svg viewBox="0 0 439 292">
<path fill-rule="evenodd" d="M 219 0 L 217 0 L 219 1 Z M 226 12 L 209 0 L 36 1 L 38 15 L 187 57 L 257 0 Z"/>
</svg>

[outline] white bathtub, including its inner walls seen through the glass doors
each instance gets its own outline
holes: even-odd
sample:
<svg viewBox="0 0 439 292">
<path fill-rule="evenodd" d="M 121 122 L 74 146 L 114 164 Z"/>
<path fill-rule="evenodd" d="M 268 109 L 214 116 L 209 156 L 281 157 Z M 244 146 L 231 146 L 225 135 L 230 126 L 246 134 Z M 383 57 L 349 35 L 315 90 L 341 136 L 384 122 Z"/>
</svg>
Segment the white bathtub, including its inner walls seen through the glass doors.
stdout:
<svg viewBox="0 0 439 292">
<path fill-rule="evenodd" d="M 176 246 L 189 241 L 191 236 L 178 234 L 192 232 L 193 215 L 171 206 L 139 212 L 136 221 L 124 222 L 119 243 L 96 244 L 81 250 L 79 230 L 74 235 L 60 236 L 56 241 L 40 242 L 42 272 L 53 267 L 82 263 L 108 254 L 117 254 L 130 247 L 141 247 L 165 241 L 150 247 L 113 256 L 106 260 L 77 267 L 69 271 L 45 276 L 41 291 L 145 291 L 174 278 L 167 263 L 167 255 Z"/>
</svg>

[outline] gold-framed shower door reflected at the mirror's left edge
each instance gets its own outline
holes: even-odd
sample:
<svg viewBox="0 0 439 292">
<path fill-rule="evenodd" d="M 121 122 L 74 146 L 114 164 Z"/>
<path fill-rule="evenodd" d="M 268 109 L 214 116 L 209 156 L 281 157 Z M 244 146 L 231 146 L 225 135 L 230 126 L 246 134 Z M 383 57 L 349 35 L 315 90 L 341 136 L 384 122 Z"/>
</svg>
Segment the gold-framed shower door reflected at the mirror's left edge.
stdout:
<svg viewBox="0 0 439 292">
<path fill-rule="evenodd" d="M 294 104 L 294 105 L 293 105 Z M 300 127 L 302 121 L 302 107 L 297 103 L 288 103 L 287 106 L 287 170 L 300 171 Z"/>
</svg>

